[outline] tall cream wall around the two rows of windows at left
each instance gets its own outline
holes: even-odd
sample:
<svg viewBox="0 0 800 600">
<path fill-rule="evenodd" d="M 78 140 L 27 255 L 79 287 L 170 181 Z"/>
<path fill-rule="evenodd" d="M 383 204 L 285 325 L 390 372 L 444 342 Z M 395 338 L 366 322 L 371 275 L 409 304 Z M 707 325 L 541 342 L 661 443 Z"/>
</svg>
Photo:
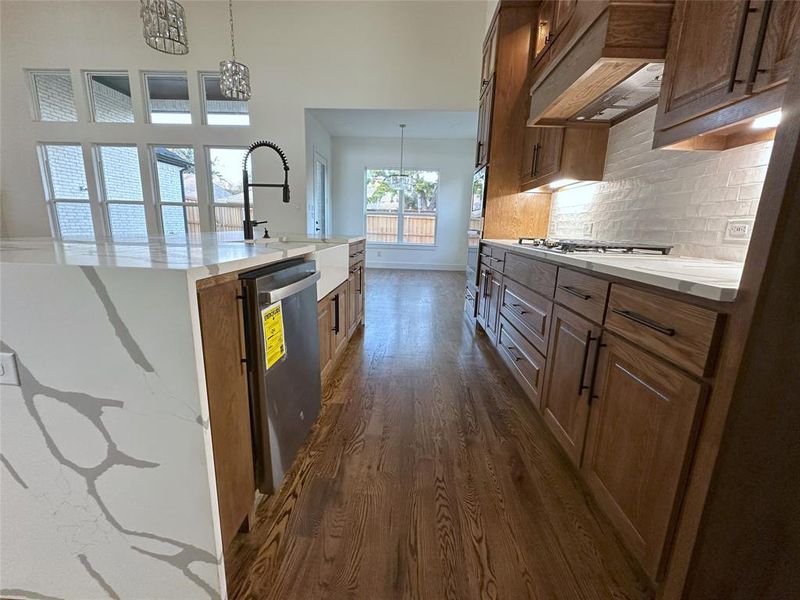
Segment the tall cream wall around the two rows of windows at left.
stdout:
<svg viewBox="0 0 800 600">
<path fill-rule="evenodd" d="M 199 122 L 197 71 L 215 71 L 230 52 L 227 3 L 184 1 L 190 40 L 167 56 L 142 40 L 139 2 L 0 3 L 0 152 L 3 232 L 49 236 L 35 154 L 37 141 L 246 145 L 267 138 L 286 151 L 292 202 L 256 192 L 256 216 L 276 232 L 305 231 L 304 108 L 475 110 L 485 2 L 237 2 L 237 58 L 251 70 L 251 126 L 143 123 L 141 70 L 187 71 Z M 24 68 L 69 68 L 78 123 L 32 123 Z M 81 69 L 131 74 L 137 123 L 90 124 Z M 262 157 L 268 157 L 264 161 Z M 262 177 L 279 178 L 274 156 L 255 157 Z M 199 188 L 205 190 L 203 174 Z M 267 194 L 266 196 L 264 194 Z"/>
</svg>

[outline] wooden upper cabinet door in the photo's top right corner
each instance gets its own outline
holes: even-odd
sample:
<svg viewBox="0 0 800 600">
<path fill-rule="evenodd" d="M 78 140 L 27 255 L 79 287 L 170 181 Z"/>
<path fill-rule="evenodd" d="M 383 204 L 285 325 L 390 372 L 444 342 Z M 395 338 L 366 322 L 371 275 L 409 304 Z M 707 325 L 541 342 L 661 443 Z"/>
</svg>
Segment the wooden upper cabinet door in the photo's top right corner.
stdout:
<svg viewBox="0 0 800 600">
<path fill-rule="evenodd" d="M 753 85 L 754 92 L 761 92 L 789 79 L 793 52 L 800 44 L 800 2 L 767 0 L 764 10 L 768 11 L 768 20 Z"/>
</svg>

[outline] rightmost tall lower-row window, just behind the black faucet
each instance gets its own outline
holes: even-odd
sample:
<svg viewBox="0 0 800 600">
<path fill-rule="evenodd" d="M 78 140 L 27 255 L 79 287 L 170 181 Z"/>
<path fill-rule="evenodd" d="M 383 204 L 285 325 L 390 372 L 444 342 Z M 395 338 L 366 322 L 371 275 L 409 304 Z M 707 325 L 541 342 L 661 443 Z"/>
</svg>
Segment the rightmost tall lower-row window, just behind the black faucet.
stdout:
<svg viewBox="0 0 800 600">
<path fill-rule="evenodd" d="M 247 148 L 208 148 L 208 172 L 211 173 L 211 198 L 214 229 L 240 237 L 244 220 L 242 193 L 242 159 Z M 247 170 L 253 174 L 250 157 Z M 253 205 L 250 205 L 253 218 Z"/>
</svg>

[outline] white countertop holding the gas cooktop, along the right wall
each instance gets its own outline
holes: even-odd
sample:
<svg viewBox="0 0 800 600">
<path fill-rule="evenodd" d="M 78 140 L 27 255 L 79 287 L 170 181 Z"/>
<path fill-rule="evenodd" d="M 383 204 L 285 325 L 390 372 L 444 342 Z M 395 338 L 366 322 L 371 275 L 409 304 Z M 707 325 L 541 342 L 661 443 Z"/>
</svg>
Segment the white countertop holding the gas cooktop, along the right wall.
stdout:
<svg viewBox="0 0 800 600">
<path fill-rule="evenodd" d="M 485 243 L 553 263 L 646 283 L 720 302 L 732 302 L 739 290 L 742 263 L 685 256 L 650 254 L 564 254 L 521 246 L 516 240 Z"/>
</svg>

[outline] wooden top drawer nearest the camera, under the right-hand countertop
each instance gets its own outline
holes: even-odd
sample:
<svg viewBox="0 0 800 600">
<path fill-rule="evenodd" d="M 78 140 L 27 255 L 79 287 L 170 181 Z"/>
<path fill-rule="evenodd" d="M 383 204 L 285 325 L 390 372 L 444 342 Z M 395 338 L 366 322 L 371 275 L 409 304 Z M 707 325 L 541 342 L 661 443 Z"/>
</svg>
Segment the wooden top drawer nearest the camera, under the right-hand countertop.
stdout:
<svg viewBox="0 0 800 600">
<path fill-rule="evenodd" d="M 695 375 L 713 367 L 720 325 L 714 311 L 613 284 L 605 325 Z"/>
</svg>

